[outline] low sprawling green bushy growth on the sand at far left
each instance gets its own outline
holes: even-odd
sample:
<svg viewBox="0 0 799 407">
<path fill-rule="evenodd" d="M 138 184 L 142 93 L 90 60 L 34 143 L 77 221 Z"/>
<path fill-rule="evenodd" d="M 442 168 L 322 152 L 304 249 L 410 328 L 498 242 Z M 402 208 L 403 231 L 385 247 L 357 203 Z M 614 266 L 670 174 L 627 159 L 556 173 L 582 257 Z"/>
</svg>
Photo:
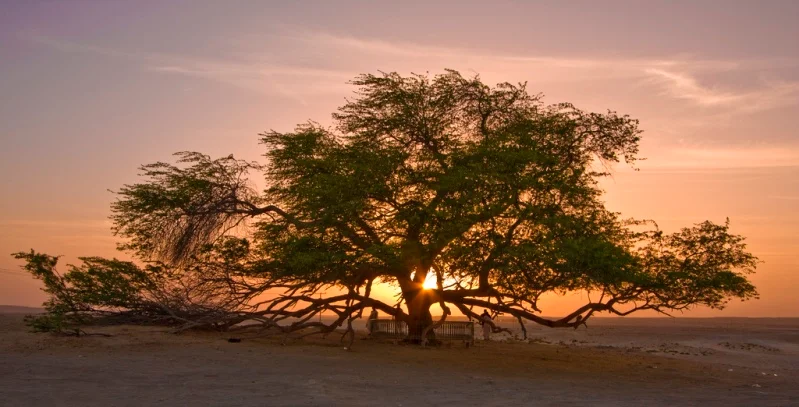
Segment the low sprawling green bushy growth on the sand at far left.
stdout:
<svg viewBox="0 0 799 407">
<path fill-rule="evenodd" d="M 81 257 L 81 265 L 56 270 L 59 258 L 34 250 L 14 253 L 44 284 L 45 314 L 26 317 L 35 332 L 81 336 L 89 323 L 147 323 L 226 329 L 241 322 L 238 298 L 213 280 L 164 265 Z M 92 334 L 92 335 L 97 335 Z M 100 334 L 102 335 L 102 334 Z"/>
</svg>

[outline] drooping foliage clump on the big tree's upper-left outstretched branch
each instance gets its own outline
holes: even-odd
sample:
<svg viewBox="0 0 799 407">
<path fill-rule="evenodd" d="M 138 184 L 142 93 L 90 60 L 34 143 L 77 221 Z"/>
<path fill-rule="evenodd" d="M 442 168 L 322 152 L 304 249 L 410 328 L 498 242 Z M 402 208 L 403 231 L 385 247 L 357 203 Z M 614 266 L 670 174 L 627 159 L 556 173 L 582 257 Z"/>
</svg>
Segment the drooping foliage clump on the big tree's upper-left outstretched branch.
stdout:
<svg viewBox="0 0 799 407">
<path fill-rule="evenodd" d="M 236 226 L 236 215 L 257 203 L 245 178 L 257 164 L 233 156 L 212 160 L 193 152 L 175 155 L 178 163 L 192 166 L 144 165 L 142 175 L 152 182 L 124 186 L 119 194 L 125 199 L 111 205 L 114 231 L 130 238 L 121 250 L 179 263 Z"/>
</svg>

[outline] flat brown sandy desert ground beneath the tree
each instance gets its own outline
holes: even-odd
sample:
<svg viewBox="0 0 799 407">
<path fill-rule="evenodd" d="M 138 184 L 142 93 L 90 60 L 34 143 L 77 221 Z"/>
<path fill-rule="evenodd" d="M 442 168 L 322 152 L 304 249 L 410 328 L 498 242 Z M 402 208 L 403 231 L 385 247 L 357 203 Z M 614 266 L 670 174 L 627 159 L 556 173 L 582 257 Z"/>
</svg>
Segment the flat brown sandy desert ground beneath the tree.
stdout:
<svg viewBox="0 0 799 407">
<path fill-rule="evenodd" d="M 4 406 L 791 406 L 799 319 L 597 319 L 419 348 L 338 336 L 175 335 L 122 326 L 106 337 L 32 334 L 0 314 Z M 509 325 L 510 326 L 510 325 Z"/>
</svg>

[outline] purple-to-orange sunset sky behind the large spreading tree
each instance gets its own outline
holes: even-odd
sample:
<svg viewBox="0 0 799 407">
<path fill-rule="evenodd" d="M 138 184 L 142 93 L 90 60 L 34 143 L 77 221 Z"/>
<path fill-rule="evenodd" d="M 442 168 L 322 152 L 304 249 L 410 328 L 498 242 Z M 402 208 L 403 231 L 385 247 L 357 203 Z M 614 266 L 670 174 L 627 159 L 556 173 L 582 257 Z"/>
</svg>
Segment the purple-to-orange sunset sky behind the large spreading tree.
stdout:
<svg viewBox="0 0 799 407">
<path fill-rule="evenodd" d="M 527 82 L 629 114 L 639 171 L 607 207 L 667 232 L 730 218 L 761 299 L 682 315 L 799 316 L 799 2 L 0 0 L 0 304 L 37 306 L 10 256 L 126 258 L 110 190 L 176 151 L 259 160 L 361 73 Z M 579 295 L 547 299 L 565 313 Z"/>
</svg>

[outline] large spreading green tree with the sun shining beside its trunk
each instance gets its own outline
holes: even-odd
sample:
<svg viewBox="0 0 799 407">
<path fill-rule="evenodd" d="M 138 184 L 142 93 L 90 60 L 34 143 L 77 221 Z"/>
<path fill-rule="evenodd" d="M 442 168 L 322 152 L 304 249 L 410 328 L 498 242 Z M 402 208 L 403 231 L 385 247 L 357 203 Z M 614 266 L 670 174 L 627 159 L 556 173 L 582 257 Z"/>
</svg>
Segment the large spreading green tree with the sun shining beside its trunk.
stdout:
<svg viewBox="0 0 799 407">
<path fill-rule="evenodd" d="M 353 84 L 333 127 L 261 134 L 263 165 L 184 152 L 177 165 L 141 167 L 145 181 L 112 204 L 122 248 L 190 270 L 252 305 L 247 318 L 286 331 L 351 329 L 376 307 L 421 337 L 436 303 L 442 318 L 477 307 L 576 327 L 596 312 L 757 295 L 746 278 L 757 259 L 729 222 L 665 235 L 604 207 L 598 180 L 634 164 L 636 120 L 544 105 L 525 84 L 492 88 L 455 71 Z M 250 172 L 264 174 L 264 191 Z M 437 288 L 424 289 L 433 275 Z M 379 281 L 398 287 L 407 313 L 371 296 Z M 577 290 L 594 299 L 540 315 L 542 294 Z M 315 321 L 322 311 L 336 321 Z"/>
</svg>

